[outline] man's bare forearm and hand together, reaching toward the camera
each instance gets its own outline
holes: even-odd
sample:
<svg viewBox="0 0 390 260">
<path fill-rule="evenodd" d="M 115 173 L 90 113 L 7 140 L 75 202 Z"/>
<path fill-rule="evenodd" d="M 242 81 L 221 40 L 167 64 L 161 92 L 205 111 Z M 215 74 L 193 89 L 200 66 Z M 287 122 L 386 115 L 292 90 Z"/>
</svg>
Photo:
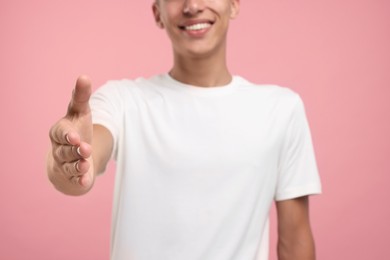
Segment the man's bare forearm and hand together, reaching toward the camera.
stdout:
<svg viewBox="0 0 390 260">
<path fill-rule="evenodd" d="M 67 195 L 83 195 L 103 173 L 113 147 L 111 133 L 93 125 L 89 98 L 91 81 L 77 79 L 68 111 L 50 129 L 51 150 L 47 156 L 49 180 Z"/>
</svg>

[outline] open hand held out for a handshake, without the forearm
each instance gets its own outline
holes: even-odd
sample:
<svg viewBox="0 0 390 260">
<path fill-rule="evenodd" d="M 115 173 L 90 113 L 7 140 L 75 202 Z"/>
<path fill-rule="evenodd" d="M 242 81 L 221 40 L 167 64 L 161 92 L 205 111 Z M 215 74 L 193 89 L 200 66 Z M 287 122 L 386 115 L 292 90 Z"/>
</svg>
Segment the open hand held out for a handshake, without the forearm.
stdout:
<svg viewBox="0 0 390 260">
<path fill-rule="evenodd" d="M 68 111 L 50 130 L 48 173 L 55 186 L 70 186 L 72 194 L 88 191 L 94 181 L 92 163 L 91 81 L 77 79 Z M 51 155 L 51 156 L 50 156 Z M 68 189 L 67 189 L 68 190 Z"/>
</svg>

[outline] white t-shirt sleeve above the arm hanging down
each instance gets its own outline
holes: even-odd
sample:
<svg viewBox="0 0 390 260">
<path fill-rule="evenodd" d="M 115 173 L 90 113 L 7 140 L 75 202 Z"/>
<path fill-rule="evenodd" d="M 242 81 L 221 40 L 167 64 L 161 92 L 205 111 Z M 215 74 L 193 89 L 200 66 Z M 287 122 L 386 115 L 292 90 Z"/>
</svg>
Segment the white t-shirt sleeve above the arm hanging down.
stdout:
<svg viewBox="0 0 390 260">
<path fill-rule="evenodd" d="M 304 104 L 296 95 L 282 144 L 275 200 L 319 193 L 321 182 L 309 124 Z"/>
</svg>

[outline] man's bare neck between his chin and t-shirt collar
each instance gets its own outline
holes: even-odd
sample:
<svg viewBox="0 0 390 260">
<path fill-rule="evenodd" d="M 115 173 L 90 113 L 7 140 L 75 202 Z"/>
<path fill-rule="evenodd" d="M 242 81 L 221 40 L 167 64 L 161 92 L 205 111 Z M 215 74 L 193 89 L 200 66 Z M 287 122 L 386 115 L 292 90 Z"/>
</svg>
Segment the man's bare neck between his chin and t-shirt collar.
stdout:
<svg viewBox="0 0 390 260">
<path fill-rule="evenodd" d="M 230 83 L 232 75 L 226 65 L 226 55 L 212 57 L 183 57 L 174 55 L 169 73 L 174 79 L 198 87 L 216 87 Z"/>
</svg>

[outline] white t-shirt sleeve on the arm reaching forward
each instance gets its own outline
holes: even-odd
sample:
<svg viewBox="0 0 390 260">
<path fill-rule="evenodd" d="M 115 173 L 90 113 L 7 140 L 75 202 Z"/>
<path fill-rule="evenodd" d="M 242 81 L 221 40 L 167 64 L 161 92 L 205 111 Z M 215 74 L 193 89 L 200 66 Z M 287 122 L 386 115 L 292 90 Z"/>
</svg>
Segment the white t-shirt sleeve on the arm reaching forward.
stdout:
<svg viewBox="0 0 390 260">
<path fill-rule="evenodd" d="M 113 138 L 113 150 L 111 157 L 116 159 L 119 129 L 123 114 L 119 88 L 112 81 L 96 90 L 90 99 L 92 123 L 104 126 L 109 130 Z"/>
</svg>

